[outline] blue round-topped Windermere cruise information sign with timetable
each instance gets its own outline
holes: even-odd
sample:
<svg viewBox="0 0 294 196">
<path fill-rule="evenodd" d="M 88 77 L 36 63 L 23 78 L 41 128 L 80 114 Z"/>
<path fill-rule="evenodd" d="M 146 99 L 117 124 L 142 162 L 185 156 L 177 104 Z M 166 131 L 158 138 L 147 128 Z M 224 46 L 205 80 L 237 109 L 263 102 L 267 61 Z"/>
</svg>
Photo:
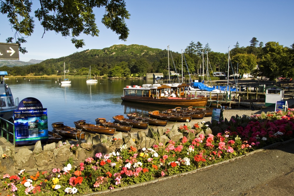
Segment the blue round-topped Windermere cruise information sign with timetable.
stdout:
<svg viewBox="0 0 294 196">
<path fill-rule="evenodd" d="M 20 101 L 18 110 L 14 110 L 16 144 L 36 143 L 48 140 L 47 108 L 33 97 Z"/>
</svg>

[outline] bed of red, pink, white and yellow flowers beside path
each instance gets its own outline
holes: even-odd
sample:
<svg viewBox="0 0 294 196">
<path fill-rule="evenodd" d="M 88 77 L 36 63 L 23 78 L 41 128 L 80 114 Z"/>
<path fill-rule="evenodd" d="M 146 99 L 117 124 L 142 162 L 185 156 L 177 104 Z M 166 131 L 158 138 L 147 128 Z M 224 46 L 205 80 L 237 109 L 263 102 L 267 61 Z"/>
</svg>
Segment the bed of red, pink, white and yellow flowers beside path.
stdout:
<svg viewBox="0 0 294 196">
<path fill-rule="evenodd" d="M 78 166 L 70 159 L 62 169 L 54 168 L 35 175 L 29 175 L 25 170 L 13 176 L 4 174 L 1 177 L 3 194 L 83 194 L 191 171 L 293 138 L 293 113 L 294 110 L 289 109 L 286 113 L 236 116 L 230 121 L 214 122 L 214 126 L 225 127 L 215 135 L 201 134 L 208 128 L 205 123 L 195 124 L 195 130 L 183 125 L 179 131 L 186 134 L 178 142 L 158 142 L 152 148 L 140 150 L 121 145 L 116 152 L 97 153 Z M 76 150 L 79 146 L 71 148 Z"/>
</svg>

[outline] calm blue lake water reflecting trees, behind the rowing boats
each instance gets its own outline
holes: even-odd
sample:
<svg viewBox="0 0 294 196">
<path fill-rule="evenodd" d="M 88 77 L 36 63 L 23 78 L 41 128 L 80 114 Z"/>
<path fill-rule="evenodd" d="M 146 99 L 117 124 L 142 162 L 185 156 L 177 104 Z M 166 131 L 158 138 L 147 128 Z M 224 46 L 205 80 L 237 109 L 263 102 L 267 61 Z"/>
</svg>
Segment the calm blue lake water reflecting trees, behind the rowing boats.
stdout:
<svg viewBox="0 0 294 196">
<path fill-rule="evenodd" d="M 9 78 L 9 77 L 8 77 Z M 74 121 L 86 120 L 96 124 L 96 118 L 113 122 L 115 115 L 132 112 L 148 115 L 148 111 L 170 108 L 154 105 L 122 102 L 123 88 L 127 85 L 153 84 L 143 79 L 98 79 L 97 83 L 86 83 L 86 78 L 72 78 L 71 84 L 59 84 L 61 78 L 9 78 L 5 83 L 11 88 L 14 100 L 27 97 L 38 99 L 47 108 L 48 129 L 51 124 L 64 122 L 74 127 Z"/>
</svg>

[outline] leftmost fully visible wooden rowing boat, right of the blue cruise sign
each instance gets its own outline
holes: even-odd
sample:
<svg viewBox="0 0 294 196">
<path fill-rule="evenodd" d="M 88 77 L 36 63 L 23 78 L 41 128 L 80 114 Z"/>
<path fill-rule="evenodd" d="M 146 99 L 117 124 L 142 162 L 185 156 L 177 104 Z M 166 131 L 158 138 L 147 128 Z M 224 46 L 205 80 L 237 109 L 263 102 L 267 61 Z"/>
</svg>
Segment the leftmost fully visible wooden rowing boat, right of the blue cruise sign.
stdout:
<svg viewBox="0 0 294 196">
<path fill-rule="evenodd" d="M 85 139 L 85 133 L 73 127 L 64 125 L 62 122 L 52 123 L 52 128 L 64 138 Z"/>
</svg>

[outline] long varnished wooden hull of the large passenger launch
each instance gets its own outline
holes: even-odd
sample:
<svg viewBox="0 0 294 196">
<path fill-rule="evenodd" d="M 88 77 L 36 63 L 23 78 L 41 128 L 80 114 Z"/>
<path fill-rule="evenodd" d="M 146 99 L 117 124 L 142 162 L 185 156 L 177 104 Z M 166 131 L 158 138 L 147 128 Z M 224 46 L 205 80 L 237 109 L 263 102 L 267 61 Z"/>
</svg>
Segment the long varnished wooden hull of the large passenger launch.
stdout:
<svg viewBox="0 0 294 196">
<path fill-rule="evenodd" d="M 121 96 L 121 100 L 143 103 L 151 105 L 162 105 L 162 106 L 193 106 L 193 107 L 205 107 L 207 104 L 207 97 L 201 98 L 161 98 L 156 99 L 152 97 L 136 97 L 136 96 Z"/>
</svg>

